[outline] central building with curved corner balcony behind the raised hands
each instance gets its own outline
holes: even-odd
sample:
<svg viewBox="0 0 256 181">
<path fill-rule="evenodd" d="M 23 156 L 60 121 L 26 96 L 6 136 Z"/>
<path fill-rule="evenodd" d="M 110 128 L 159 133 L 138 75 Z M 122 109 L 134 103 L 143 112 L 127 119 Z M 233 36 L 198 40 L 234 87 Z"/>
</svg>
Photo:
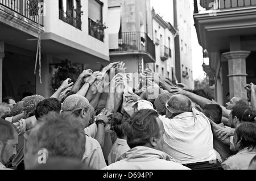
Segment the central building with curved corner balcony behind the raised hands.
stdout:
<svg viewBox="0 0 256 181">
<path fill-rule="evenodd" d="M 127 78 L 155 62 L 150 0 L 109 0 L 109 56 L 123 61 Z"/>
</svg>

